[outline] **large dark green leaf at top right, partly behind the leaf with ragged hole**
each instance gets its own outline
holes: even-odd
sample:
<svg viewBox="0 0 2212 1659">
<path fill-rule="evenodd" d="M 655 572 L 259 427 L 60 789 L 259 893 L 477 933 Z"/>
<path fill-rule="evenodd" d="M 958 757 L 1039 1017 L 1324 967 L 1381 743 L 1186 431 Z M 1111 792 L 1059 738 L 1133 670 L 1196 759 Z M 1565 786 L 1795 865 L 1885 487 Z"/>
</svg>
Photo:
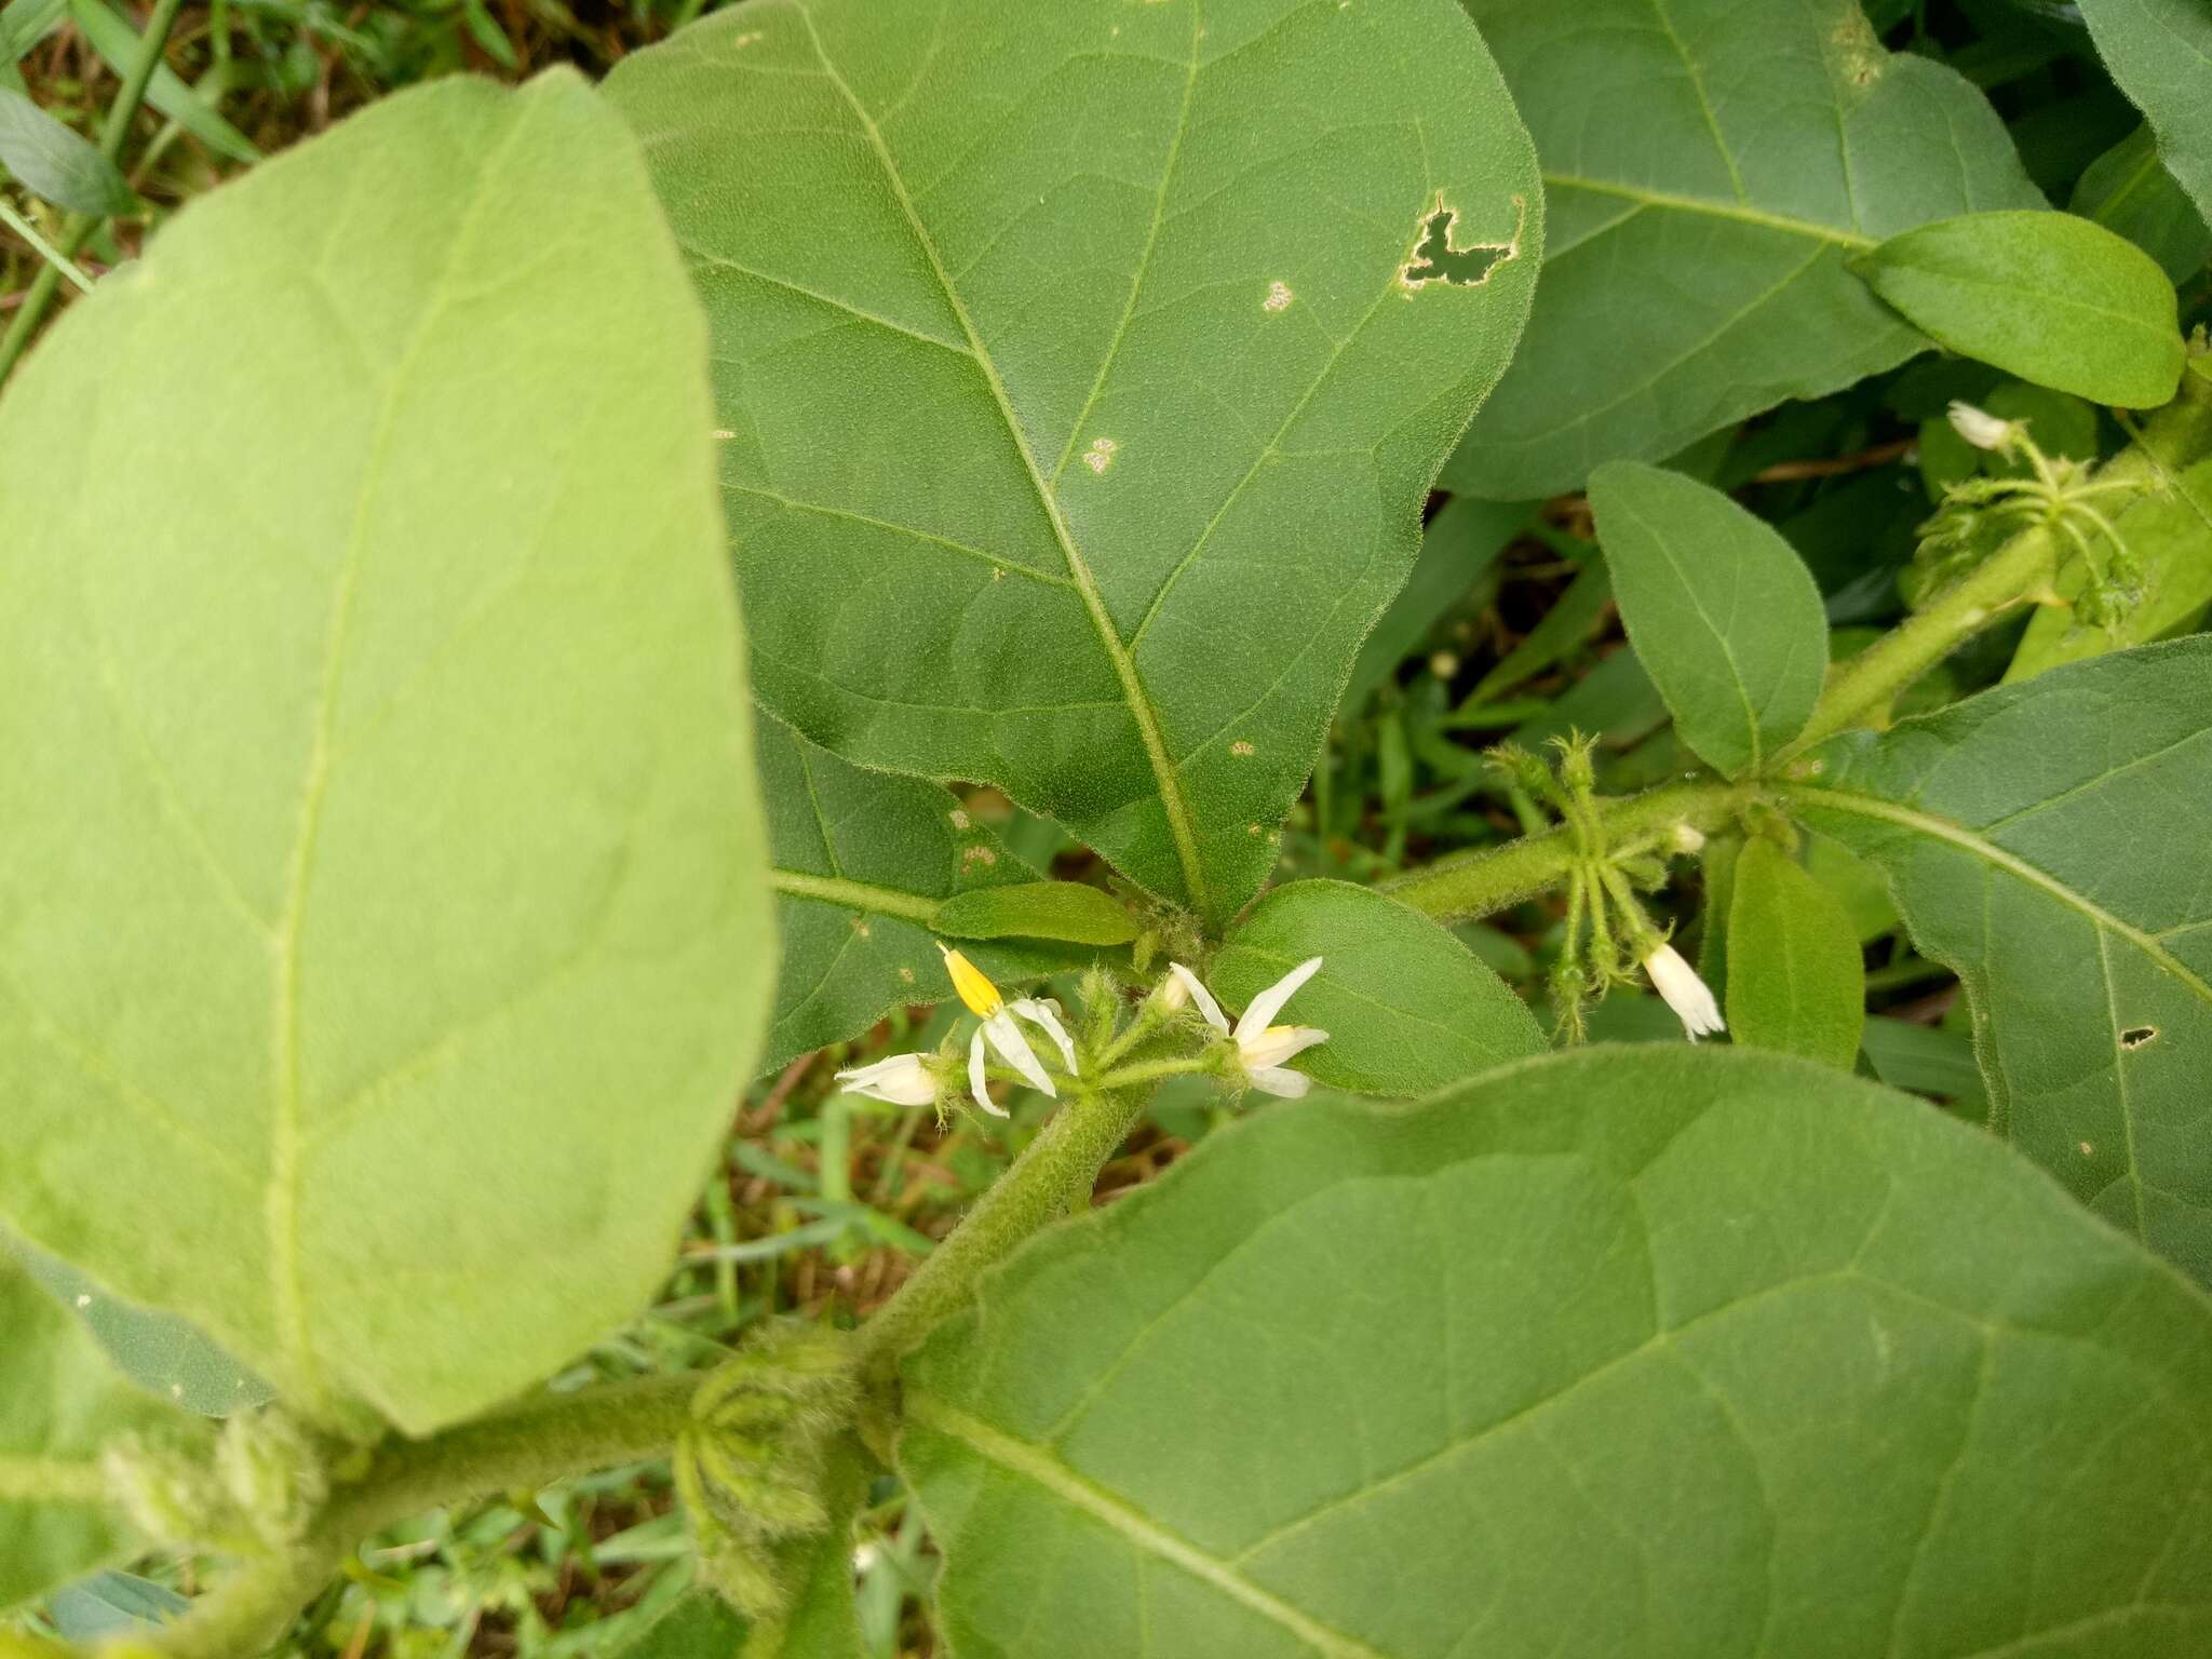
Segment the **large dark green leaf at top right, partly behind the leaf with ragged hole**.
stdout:
<svg viewBox="0 0 2212 1659">
<path fill-rule="evenodd" d="M 1575 489 L 1922 341 L 1845 261 L 1927 219 L 2035 208 L 1995 113 L 1889 55 L 1858 0 L 1467 0 L 1535 133 L 1535 316 L 1447 469 Z"/>
</svg>

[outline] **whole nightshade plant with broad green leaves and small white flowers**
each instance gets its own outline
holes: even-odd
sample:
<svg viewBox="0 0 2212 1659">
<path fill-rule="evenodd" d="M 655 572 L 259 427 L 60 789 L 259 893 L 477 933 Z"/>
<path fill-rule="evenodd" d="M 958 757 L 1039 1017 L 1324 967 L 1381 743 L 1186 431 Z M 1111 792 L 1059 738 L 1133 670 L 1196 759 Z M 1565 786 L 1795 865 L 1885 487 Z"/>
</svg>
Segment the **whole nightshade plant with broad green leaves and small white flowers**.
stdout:
<svg viewBox="0 0 2212 1659">
<path fill-rule="evenodd" d="M 2068 212 L 1907 11 L 748 0 L 181 210 L 0 398 L 0 1606 L 190 1551 L 102 1650 L 257 1655 L 666 1458 L 644 1655 L 860 1655 L 885 1471 L 971 1659 L 2212 1650 L 2212 22 L 2081 0 Z M 1785 538 L 1730 445 L 1858 383 L 1938 502 Z M 1422 728 L 1524 834 L 1272 880 L 1559 493 Z M 1670 726 L 1491 719 L 1608 599 Z M 1854 1075 L 1851 902 L 1984 1121 Z M 1447 927 L 1531 905 L 1542 1018 Z M 841 1082 L 1051 1115 L 889 1303 L 542 1387 L 956 993 Z M 1166 1079 L 1248 1121 L 1093 1212 Z"/>
</svg>

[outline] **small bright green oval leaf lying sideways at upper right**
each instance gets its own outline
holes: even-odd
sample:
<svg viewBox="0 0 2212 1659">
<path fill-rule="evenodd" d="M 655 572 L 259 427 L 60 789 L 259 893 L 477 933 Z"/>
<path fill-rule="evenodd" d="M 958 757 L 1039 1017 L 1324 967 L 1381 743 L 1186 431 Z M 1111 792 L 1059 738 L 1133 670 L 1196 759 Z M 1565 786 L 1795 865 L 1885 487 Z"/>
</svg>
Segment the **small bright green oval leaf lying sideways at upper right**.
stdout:
<svg viewBox="0 0 2212 1659">
<path fill-rule="evenodd" d="M 2022 380 L 2157 409 L 2188 347 L 2174 285 L 2070 212 L 1975 212 L 1891 237 L 1860 268 L 1931 338 Z"/>
</svg>

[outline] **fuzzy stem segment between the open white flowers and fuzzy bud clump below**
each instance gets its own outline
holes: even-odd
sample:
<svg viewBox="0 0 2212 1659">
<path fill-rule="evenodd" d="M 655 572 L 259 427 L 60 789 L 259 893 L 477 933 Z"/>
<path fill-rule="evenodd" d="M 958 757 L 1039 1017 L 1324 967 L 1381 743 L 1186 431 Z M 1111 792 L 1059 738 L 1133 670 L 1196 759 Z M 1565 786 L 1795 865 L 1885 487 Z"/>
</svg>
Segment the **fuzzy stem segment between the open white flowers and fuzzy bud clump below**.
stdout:
<svg viewBox="0 0 2212 1659">
<path fill-rule="evenodd" d="M 854 1334 L 863 1376 L 880 1380 L 931 1325 L 956 1312 L 987 1267 L 1004 1261 L 1037 1228 L 1088 1199 L 1099 1168 L 1144 1110 L 1141 1093 L 1082 1088 L 1037 1133 L 951 1237 L 916 1267 Z"/>
</svg>

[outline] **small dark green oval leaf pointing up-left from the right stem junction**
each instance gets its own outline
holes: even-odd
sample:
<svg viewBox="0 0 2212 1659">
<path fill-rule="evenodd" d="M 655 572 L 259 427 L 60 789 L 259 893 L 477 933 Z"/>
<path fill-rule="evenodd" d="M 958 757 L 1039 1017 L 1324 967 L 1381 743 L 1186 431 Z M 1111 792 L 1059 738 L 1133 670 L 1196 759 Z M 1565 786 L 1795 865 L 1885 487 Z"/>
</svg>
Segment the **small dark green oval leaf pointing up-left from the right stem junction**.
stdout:
<svg viewBox="0 0 2212 1659">
<path fill-rule="evenodd" d="M 1827 675 L 1827 615 L 1805 562 L 1694 478 L 1613 462 L 1590 476 L 1628 644 L 1681 741 L 1728 776 L 1805 730 Z"/>
</svg>

